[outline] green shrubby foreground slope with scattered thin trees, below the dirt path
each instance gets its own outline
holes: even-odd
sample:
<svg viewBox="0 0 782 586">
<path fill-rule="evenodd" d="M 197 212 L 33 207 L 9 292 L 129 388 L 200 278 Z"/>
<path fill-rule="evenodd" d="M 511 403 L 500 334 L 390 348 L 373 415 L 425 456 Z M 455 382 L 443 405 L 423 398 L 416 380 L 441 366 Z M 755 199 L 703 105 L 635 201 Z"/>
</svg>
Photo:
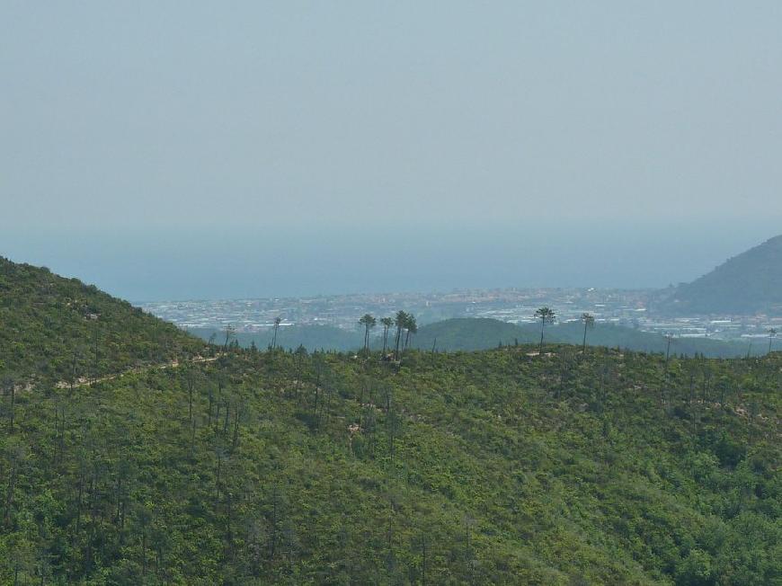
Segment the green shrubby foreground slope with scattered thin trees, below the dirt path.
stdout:
<svg viewBox="0 0 782 586">
<path fill-rule="evenodd" d="M 235 352 L 22 395 L 0 581 L 779 583 L 782 357 L 551 350 Z"/>
</svg>

